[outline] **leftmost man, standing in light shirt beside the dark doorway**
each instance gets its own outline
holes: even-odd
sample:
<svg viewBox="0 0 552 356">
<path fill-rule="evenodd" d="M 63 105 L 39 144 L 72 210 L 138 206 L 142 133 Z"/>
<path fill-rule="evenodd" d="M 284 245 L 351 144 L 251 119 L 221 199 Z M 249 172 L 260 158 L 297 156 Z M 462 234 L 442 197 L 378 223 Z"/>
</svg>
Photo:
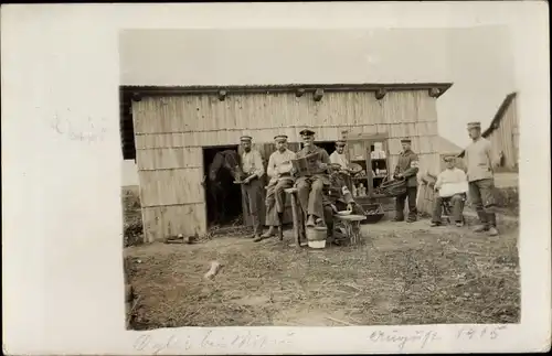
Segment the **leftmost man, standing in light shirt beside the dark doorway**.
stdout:
<svg viewBox="0 0 552 356">
<path fill-rule="evenodd" d="M 252 149 L 251 136 L 242 136 L 240 139 L 243 148 L 242 171 L 245 174 L 243 180 L 243 193 L 247 202 L 248 212 L 253 219 L 253 238 L 258 238 L 262 233 L 261 218 L 258 212 L 263 206 L 263 182 L 261 177 L 265 173 L 263 158 L 257 150 Z"/>
</svg>

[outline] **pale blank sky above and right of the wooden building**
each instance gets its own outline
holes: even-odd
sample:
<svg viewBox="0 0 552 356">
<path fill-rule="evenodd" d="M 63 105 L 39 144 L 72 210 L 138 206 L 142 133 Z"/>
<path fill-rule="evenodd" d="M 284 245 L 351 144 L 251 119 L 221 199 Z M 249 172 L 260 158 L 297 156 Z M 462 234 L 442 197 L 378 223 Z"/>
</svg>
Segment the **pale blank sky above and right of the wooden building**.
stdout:
<svg viewBox="0 0 552 356">
<path fill-rule="evenodd" d="M 123 85 L 453 83 L 439 134 L 465 147 L 516 91 L 507 26 L 359 30 L 127 30 Z"/>
</svg>

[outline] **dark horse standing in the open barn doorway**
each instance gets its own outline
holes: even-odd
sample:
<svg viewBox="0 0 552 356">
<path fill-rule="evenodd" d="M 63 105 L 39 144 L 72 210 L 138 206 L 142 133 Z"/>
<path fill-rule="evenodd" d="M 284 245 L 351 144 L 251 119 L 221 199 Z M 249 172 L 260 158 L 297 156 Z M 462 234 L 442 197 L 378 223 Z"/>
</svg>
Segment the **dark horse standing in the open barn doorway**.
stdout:
<svg viewBox="0 0 552 356">
<path fill-rule="evenodd" d="M 234 181 L 242 181 L 244 173 L 240 168 L 240 157 L 234 150 L 216 152 L 213 162 L 209 165 L 209 173 L 203 176 L 208 199 L 212 207 L 212 220 L 222 223 L 226 218 L 229 193 Z"/>
</svg>

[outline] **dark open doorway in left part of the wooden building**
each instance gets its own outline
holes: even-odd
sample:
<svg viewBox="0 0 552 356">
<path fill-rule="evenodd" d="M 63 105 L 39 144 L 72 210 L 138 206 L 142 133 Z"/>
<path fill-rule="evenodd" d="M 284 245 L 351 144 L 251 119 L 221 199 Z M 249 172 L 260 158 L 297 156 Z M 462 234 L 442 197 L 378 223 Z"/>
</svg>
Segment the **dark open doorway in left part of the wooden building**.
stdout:
<svg viewBox="0 0 552 356">
<path fill-rule="evenodd" d="M 227 150 L 237 154 L 237 145 L 203 148 L 208 228 L 243 225 L 242 188 L 240 184 L 233 183 L 231 172 L 220 164 L 221 157 L 216 157 Z M 211 170 L 215 180 L 212 180 Z"/>
</svg>

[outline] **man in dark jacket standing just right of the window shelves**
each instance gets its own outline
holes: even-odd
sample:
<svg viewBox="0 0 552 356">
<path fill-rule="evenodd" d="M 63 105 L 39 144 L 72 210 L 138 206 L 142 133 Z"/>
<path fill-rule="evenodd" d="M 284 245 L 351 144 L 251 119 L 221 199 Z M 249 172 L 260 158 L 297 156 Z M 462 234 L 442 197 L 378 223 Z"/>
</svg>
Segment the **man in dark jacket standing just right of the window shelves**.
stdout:
<svg viewBox="0 0 552 356">
<path fill-rule="evenodd" d="M 395 222 L 404 220 L 404 201 L 408 201 L 408 223 L 416 220 L 416 195 L 417 195 L 417 171 L 418 159 L 417 154 L 411 149 L 412 141 L 410 139 L 401 140 L 403 151 L 399 157 L 399 163 L 395 166 L 393 177 L 395 180 L 406 180 L 406 193 L 395 198 Z"/>
</svg>

